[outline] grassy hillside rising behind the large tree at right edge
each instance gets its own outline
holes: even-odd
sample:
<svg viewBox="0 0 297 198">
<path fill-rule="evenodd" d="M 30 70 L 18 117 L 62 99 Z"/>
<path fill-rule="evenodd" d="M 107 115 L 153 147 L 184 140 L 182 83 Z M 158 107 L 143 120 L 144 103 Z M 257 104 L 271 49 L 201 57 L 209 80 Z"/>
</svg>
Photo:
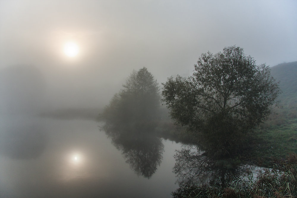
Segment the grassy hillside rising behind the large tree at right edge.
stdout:
<svg viewBox="0 0 297 198">
<path fill-rule="evenodd" d="M 297 153 L 297 61 L 271 67 L 271 75 L 279 81 L 282 107 L 260 125 L 255 141 L 255 161 L 260 166 Z"/>
</svg>

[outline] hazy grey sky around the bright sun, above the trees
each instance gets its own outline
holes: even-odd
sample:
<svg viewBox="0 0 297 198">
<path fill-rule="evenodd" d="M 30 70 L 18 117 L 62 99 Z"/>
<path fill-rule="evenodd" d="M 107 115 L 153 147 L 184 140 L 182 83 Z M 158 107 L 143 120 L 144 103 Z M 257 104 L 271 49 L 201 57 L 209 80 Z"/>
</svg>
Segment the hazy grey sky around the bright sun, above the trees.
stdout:
<svg viewBox="0 0 297 198">
<path fill-rule="evenodd" d="M 257 64 L 297 61 L 296 10 L 296 0 L 1 0 L 0 69 L 35 67 L 49 106 L 92 108 L 133 69 L 147 67 L 161 84 L 226 46 Z M 69 41 L 75 57 L 63 53 Z"/>
</svg>

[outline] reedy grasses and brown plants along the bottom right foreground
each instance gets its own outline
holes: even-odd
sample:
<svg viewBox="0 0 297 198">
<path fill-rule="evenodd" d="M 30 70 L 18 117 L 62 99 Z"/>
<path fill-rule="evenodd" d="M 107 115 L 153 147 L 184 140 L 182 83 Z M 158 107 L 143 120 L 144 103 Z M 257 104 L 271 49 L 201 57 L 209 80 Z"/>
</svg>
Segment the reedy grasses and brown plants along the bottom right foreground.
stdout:
<svg viewBox="0 0 297 198">
<path fill-rule="evenodd" d="M 263 169 L 256 179 L 233 177 L 224 187 L 219 179 L 202 185 L 181 186 L 172 193 L 173 197 L 297 197 L 297 155 Z"/>
</svg>

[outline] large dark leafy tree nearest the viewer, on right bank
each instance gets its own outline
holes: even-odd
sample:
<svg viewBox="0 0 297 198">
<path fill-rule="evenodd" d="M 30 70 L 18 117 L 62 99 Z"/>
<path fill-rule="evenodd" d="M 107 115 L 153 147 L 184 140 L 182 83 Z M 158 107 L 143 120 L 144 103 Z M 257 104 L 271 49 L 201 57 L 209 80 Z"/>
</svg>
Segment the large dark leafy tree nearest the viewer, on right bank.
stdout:
<svg viewBox="0 0 297 198">
<path fill-rule="evenodd" d="M 194 68 L 188 78 L 162 83 L 163 102 L 176 123 L 197 137 L 224 180 L 241 163 L 248 135 L 271 113 L 280 89 L 268 66 L 256 65 L 236 46 L 203 53 Z"/>
</svg>

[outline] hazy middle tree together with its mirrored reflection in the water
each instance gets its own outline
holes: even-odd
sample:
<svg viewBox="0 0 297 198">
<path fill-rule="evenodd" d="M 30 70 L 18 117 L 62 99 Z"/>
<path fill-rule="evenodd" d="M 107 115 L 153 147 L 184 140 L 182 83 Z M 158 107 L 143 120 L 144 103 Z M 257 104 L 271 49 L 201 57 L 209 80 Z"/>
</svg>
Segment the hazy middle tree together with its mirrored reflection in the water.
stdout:
<svg viewBox="0 0 297 198">
<path fill-rule="evenodd" d="M 157 80 L 143 67 L 133 70 L 123 89 L 114 94 L 99 116 L 101 127 L 122 151 L 126 162 L 137 175 L 150 178 L 160 166 L 164 145 L 151 134 L 159 116 L 160 93 Z"/>
</svg>

